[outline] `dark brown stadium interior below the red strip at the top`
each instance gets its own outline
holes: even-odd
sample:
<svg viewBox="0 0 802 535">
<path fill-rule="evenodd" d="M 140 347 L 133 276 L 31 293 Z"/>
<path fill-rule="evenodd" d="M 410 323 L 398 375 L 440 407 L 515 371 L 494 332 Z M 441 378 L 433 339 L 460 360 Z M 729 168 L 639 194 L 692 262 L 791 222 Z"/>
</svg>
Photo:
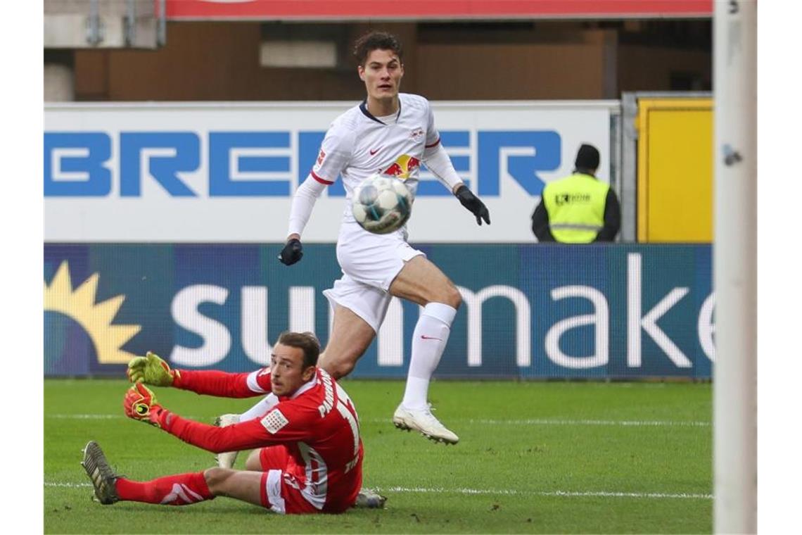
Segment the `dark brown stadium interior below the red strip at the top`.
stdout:
<svg viewBox="0 0 802 535">
<path fill-rule="evenodd" d="M 403 90 L 434 100 L 614 99 L 623 91 L 711 89 L 707 19 L 168 22 L 166 46 L 155 51 L 51 50 L 45 61 L 74 67 L 79 101 L 353 100 L 362 88 L 353 83 L 348 43 L 368 28 L 399 34 L 410 59 Z M 262 67 L 259 47 L 270 39 L 334 39 L 337 65 Z"/>
</svg>

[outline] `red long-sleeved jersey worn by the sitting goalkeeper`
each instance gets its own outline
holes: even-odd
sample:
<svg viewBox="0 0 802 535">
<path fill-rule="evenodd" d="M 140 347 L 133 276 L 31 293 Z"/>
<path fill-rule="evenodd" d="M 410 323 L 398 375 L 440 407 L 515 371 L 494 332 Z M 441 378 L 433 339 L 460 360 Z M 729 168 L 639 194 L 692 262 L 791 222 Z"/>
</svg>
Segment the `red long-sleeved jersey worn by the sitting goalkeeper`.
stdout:
<svg viewBox="0 0 802 535">
<path fill-rule="evenodd" d="M 174 387 L 220 397 L 264 395 L 271 390 L 270 370 L 252 373 L 180 371 Z M 165 425 L 166 424 L 166 425 Z M 363 445 L 359 420 L 346 391 L 326 371 L 260 418 L 225 428 L 172 415 L 165 431 L 209 452 L 233 452 L 283 444 L 290 452 L 284 471 L 300 484 L 302 496 L 316 509 L 339 512 L 356 501 L 362 487 Z"/>
</svg>

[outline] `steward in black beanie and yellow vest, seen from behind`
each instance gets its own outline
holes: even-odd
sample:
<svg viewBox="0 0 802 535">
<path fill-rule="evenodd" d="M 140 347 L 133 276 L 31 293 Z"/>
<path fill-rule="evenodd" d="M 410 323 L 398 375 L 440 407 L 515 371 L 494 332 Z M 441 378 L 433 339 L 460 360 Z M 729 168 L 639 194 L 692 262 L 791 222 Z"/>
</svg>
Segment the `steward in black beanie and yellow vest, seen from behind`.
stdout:
<svg viewBox="0 0 802 535">
<path fill-rule="evenodd" d="M 596 178 L 599 152 L 583 144 L 571 176 L 549 182 L 532 214 L 538 241 L 613 241 L 621 227 L 621 205 L 610 184 Z"/>
</svg>

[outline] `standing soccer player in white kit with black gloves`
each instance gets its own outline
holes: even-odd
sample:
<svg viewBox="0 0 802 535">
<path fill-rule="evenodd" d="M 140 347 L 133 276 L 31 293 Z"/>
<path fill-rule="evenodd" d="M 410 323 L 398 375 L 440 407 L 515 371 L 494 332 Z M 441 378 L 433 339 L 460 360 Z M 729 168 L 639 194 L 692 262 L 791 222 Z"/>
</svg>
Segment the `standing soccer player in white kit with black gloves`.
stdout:
<svg viewBox="0 0 802 535">
<path fill-rule="evenodd" d="M 279 259 L 286 265 L 301 260 L 301 234 L 314 203 L 342 176 L 346 209 L 337 241 L 342 278 L 323 292 L 334 309 L 334 324 L 319 365 L 335 379 L 348 375 L 379 331 L 393 296 L 423 306 L 413 333 L 406 389 L 393 423 L 431 440 L 456 444 L 459 437 L 431 414 L 427 393 L 462 302 L 460 292 L 422 252 L 407 244 L 406 227 L 381 235 L 360 227 L 351 214 L 350 197 L 363 179 L 376 172 L 404 180 L 414 196 L 423 162 L 474 214 L 477 224 L 489 225 L 490 215 L 464 185 L 440 144 L 427 99 L 399 93 L 403 63 L 398 39 L 370 32 L 355 43 L 354 55 L 367 98 L 335 119 L 326 132 L 317 162 L 294 195 Z M 261 411 L 257 405 L 235 421 Z"/>
</svg>

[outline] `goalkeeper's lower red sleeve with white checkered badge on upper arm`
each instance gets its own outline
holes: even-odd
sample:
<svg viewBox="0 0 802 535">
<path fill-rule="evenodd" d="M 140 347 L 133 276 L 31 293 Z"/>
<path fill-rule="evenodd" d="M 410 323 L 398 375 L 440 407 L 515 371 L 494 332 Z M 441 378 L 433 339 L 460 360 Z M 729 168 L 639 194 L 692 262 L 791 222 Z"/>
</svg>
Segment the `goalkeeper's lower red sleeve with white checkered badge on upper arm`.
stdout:
<svg viewBox="0 0 802 535">
<path fill-rule="evenodd" d="M 308 408 L 298 410 L 290 400 L 278 403 L 261 418 L 225 428 L 201 424 L 169 412 L 164 415 L 161 427 L 188 444 L 208 452 L 221 453 L 309 440 L 314 435 L 316 419 L 320 419 L 317 411 Z"/>
</svg>

